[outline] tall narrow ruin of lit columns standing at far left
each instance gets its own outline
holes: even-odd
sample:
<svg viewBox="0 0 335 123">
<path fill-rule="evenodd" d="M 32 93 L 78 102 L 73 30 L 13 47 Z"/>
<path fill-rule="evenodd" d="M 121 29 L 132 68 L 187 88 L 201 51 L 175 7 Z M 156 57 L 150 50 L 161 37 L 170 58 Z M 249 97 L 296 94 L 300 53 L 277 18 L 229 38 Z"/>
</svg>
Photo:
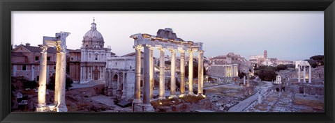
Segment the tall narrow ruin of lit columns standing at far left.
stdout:
<svg viewBox="0 0 335 123">
<path fill-rule="evenodd" d="M 40 80 L 38 81 L 38 107 L 37 112 L 54 111 L 67 112 L 65 104 L 65 82 L 66 82 L 66 37 L 70 33 L 56 33 L 56 37 L 43 36 L 43 45 L 40 45 Z M 56 77 L 54 86 L 54 104 L 46 105 L 45 94 L 47 84 L 47 48 L 56 47 Z"/>
</svg>

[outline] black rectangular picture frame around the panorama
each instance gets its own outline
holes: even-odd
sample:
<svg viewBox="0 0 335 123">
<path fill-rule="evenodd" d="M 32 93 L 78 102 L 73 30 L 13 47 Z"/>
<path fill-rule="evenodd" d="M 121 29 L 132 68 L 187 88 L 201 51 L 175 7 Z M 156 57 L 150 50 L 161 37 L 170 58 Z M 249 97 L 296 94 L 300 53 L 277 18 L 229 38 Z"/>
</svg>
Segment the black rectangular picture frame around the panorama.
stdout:
<svg viewBox="0 0 335 123">
<path fill-rule="evenodd" d="M 0 0 L 1 122 L 334 122 L 334 0 Z M 325 13 L 325 113 L 11 113 L 11 11 L 320 10 Z M 62 19 L 55 17 L 54 19 Z"/>
</svg>

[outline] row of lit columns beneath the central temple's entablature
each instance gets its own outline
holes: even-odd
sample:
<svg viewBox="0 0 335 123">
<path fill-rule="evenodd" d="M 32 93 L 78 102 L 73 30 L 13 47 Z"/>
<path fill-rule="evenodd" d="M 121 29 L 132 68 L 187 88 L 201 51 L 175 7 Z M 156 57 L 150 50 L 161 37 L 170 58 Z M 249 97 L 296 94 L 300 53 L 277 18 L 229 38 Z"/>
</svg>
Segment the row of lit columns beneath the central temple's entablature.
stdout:
<svg viewBox="0 0 335 123">
<path fill-rule="evenodd" d="M 135 47 L 135 96 L 133 103 L 141 103 L 140 99 L 140 69 L 141 69 L 141 49 L 144 47 L 144 83 L 143 83 L 143 104 L 150 104 L 152 99 L 152 87 L 154 83 L 154 60 L 153 60 L 153 47 L 151 45 Z M 159 65 L 159 99 L 165 98 L 165 49 L 158 48 L 160 51 L 160 65 Z M 176 95 L 176 50 L 169 49 L 171 52 L 171 87 L 170 97 L 177 97 Z M 185 51 L 179 50 L 181 54 L 180 59 L 180 95 L 185 95 Z M 188 51 L 189 64 L 188 64 L 188 94 L 193 95 L 193 52 Z M 198 51 L 198 95 L 203 95 L 203 51 Z"/>
</svg>

